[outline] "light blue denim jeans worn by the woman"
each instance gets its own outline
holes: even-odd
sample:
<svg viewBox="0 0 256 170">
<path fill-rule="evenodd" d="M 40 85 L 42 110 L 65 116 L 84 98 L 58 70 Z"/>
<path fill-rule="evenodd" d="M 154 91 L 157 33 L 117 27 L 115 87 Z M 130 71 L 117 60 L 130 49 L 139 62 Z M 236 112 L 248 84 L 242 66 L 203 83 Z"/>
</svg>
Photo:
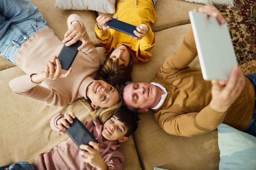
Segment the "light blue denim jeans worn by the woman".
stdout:
<svg viewBox="0 0 256 170">
<path fill-rule="evenodd" d="M 42 14 L 28 0 L 1 0 L 0 55 L 15 64 L 20 46 L 45 28 L 49 27 Z"/>
</svg>

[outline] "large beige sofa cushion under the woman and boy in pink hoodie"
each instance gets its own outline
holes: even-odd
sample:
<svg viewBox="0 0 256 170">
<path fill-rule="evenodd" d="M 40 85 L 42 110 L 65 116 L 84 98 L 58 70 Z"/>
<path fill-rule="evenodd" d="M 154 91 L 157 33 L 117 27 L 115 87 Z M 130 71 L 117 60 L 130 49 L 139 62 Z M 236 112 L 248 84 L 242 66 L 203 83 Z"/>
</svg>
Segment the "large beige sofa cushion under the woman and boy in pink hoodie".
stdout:
<svg viewBox="0 0 256 170">
<path fill-rule="evenodd" d="M 19 67 L 0 71 L 0 166 L 26 160 L 30 163 L 42 152 L 66 140 L 50 128 L 50 119 L 57 113 L 73 111 L 78 119 L 90 120 L 89 111 L 81 100 L 65 107 L 51 107 L 14 94 L 8 83 L 25 74 Z M 124 168 L 140 170 L 139 158 L 132 136 L 122 143 Z"/>
</svg>

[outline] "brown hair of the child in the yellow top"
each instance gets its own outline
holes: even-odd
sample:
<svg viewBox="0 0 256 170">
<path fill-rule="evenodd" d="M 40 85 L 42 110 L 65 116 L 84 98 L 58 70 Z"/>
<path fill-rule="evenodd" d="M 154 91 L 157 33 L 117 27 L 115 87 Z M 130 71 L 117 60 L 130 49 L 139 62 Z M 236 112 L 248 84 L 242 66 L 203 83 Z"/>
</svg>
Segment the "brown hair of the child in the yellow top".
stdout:
<svg viewBox="0 0 256 170">
<path fill-rule="evenodd" d="M 123 84 L 126 81 L 132 81 L 132 62 L 129 62 L 127 67 L 124 64 L 118 65 L 118 63 L 119 58 L 113 61 L 108 55 L 98 70 L 98 78 L 110 84 Z"/>
</svg>

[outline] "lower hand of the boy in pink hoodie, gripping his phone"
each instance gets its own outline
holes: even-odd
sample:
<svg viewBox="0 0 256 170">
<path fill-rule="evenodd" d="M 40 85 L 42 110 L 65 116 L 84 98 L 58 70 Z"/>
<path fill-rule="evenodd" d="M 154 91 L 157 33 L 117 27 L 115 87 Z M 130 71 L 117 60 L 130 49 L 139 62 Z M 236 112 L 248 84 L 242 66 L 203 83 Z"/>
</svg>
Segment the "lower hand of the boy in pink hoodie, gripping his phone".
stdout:
<svg viewBox="0 0 256 170">
<path fill-rule="evenodd" d="M 93 148 L 91 148 L 89 145 L 91 145 Z M 82 160 L 98 170 L 107 170 L 107 165 L 98 152 L 98 144 L 95 142 L 89 142 L 89 145 L 80 145 L 80 149 L 88 151 L 79 151 L 79 154 L 83 155 Z"/>
</svg>

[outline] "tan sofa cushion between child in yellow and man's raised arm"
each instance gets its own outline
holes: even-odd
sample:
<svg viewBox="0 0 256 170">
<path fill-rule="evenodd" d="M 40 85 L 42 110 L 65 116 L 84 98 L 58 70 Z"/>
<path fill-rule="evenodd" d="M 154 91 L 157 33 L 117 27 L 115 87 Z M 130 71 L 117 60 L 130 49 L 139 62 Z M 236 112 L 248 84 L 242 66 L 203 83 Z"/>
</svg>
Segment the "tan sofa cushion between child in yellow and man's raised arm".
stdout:
<svg viewBox="0 0 256 170">
<path fill-rule="evenodd" d="M 178 46 L 181 45 L 185 33 L 191 27 L 186 24 L 174 28 L 155 32 L 156 45 L 153 49 L 153 57 L 147 63 L 134 63 L 132 77 L 134 82 L 150 83 L 154 79 L 156 72 L 164 63 L 165 59 L 171 56 Z M 189 65 L 200 67 L 198 57 Z"/>
</svg>

